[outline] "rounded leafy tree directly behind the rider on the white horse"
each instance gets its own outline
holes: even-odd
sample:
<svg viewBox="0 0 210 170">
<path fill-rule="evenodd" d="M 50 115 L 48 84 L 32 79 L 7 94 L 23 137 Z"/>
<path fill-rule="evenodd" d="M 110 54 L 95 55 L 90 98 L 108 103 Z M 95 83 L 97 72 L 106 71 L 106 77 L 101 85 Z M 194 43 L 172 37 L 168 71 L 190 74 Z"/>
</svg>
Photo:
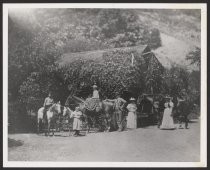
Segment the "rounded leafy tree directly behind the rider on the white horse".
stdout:
<svg viewBox="0 0 210 170">
<path fill-rule="evenodd" d="M 68 89 L 63 78 L 62 68 L 48 67 L 43 72 L 32 72 L 20 86 L 20 102 L 28 110 L 37 111 L 43 105 L 44 98 L 51 91 L 54 100 L 64 104 Z"/>
</svg>

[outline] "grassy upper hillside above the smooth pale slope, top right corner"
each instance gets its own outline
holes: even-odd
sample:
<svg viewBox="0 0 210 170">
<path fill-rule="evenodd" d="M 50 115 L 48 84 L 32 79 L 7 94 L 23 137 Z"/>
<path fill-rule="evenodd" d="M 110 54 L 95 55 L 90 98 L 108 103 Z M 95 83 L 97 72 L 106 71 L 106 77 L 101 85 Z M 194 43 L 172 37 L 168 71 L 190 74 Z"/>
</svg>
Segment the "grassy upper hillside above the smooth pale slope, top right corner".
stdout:
<svg viewBox="0 0 210 170">
<path fill-rule="evenodd" d="M 187 43 L 200 47 L 201 18 L 200 10 L 137 10 L 140 22 L 148 27 L 158 28 Z"/>
</svg>

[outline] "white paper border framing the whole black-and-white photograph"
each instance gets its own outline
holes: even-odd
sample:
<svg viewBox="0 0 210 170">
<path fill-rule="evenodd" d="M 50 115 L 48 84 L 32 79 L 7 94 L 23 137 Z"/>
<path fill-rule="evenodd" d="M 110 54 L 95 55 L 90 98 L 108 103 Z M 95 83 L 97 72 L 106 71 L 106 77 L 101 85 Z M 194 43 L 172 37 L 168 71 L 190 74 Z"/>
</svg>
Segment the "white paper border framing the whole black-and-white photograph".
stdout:
<svg viewBox="0 0 210 170">
<path fill-rule="evenodd" d="M 8 161 L 8 9 L 133 8 L 201 10 L 200 162 L 25 162 Z M 207 4 L 206 3 L 10 3 L 3 4 L 3 167 L 206 167 L 207 166 Z"/>
</svg>

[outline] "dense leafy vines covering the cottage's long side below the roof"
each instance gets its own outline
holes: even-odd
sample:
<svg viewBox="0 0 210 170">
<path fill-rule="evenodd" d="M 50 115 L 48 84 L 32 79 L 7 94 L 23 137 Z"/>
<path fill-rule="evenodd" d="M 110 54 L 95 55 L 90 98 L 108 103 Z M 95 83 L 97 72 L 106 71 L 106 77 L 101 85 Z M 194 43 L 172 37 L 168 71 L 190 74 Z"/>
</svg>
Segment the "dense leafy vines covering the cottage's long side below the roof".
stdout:
<svg viewBox="0 0 210 170">
<path fill-rule="evenodd" d="M 114 98 L 116 93 L 123 91 L 141 93 L 144 89 L 145 63 L 138 54 L 133 54 L 137 60 L 134 66 L 131 64 L 131 52 L 119 50 L 105 52 L 103 63 L 76 60 L 66 66 L 65 79 L 70 85 L 70 92 L 85 98 L 92 93 L 91 86 L 95 82 L 102 98 Z"/>
</svg>

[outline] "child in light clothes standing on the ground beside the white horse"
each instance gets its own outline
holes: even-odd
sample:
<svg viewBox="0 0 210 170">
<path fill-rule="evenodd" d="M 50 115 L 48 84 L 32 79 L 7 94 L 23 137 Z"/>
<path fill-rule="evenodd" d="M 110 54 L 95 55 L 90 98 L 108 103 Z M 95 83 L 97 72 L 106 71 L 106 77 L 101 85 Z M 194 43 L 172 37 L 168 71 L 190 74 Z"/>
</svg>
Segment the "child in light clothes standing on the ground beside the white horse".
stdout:
<svg viewBox="0 0 210 170">
<path fill-rule="evenodd" d="M 75 111 L 72 112 L 70 116 L 70 118 L 74 119 L 73 121 L 74 136 L 78 136 L 81 130 L 81 125 L 82 125 L 81 116 L 82 112 L 79 110 L 79 107 L 76 107 Z"/>
</svg>

